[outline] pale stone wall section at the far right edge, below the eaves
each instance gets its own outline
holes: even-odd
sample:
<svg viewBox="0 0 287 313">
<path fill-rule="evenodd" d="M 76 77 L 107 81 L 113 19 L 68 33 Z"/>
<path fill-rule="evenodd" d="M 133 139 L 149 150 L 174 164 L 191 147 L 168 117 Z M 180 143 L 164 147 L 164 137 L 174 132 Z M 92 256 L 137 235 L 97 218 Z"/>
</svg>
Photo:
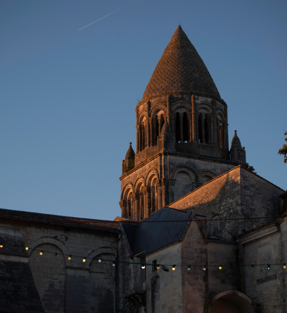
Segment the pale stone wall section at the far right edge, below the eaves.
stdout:
<svg viewBox="0 0 287 313">
<path fill-rule="evenodd" d="M 287 269 L 284 269 L 283 265 L 270 265 L 270 270 L 267 265 L 251 268 L 251 264 L 287 262 L 286 218 L 272 229 L 272 231 L 259 229 L 252 232 L 249 235 L 250 241 L 245 242 L 241 247 L 241 262 L 250 264 L 243 268 L 243 287 L 246 295 L 260 307 L 262 313 L 285 313 L 287 312 Z"/>
</svg>

